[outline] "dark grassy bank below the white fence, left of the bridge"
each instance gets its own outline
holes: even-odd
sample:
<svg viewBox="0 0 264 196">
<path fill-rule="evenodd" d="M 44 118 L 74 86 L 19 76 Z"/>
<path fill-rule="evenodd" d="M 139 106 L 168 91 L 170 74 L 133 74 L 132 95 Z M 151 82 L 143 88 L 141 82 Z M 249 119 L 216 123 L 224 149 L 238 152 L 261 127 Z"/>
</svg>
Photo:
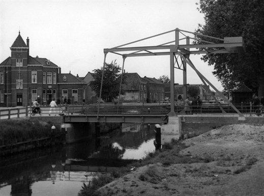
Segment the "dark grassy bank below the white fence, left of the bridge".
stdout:
<svg viewBox="0 0 264 196">
<path fill-rule="evenodd" d="M 40 118 L 20 118 L 0 121 L 0 146 L 16 144 L 51 134 L 54 122 Z M 60 127 L 56 123 L 56 127 Z"/>
</svg>

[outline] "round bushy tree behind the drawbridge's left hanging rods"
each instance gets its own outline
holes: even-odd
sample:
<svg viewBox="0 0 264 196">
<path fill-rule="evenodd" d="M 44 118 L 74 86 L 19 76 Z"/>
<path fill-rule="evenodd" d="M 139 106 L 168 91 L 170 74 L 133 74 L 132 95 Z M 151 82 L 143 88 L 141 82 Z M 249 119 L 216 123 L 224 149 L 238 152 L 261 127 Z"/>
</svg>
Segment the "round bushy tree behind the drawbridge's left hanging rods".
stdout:
<svg viewBox="0 0 264 196">
<path fill-rule="evenodd" d="M 94 72 L 94 81 L 90 82 L 90 87 L 93 91 L 96 92 L 97 96 L 100 96 L 100 88 L 101 88 L 101 79 L 102 79 L 102 71 L 101 69 L 95 69 Z M 103 88 L 101 98 L 105 102 L 110 102 L 116 97 L 119 96 L 119 88 L 120 88 L 120 71 L 121 68 L 116 63 L 116 61 L 111 62 L 110 64 L 105 63 L 104 67 L 104 78 L 103 78 Z M 125 78 L 123 77 L 122 83 L 125 82 Z M 124 92 L 121 92 L 124 94 Z"/>
</svg>

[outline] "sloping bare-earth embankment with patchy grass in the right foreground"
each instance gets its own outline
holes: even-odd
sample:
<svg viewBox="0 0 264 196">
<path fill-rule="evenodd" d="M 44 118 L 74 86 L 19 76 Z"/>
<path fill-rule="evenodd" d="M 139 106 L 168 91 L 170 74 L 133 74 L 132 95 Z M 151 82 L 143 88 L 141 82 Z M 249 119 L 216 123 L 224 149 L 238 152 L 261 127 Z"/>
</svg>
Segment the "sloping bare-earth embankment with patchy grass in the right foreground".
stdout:
<svg viewBox="0 0 264 196">
<path fill-rule="evenodd" d="M 170 155 L 181 157 L 182 163 L 139 167 L 96 194 L 263 195 L 263 142 L 263 125 L 223 126 L 186 139 L 184 143 L 189 147 Z"/>
</svg>

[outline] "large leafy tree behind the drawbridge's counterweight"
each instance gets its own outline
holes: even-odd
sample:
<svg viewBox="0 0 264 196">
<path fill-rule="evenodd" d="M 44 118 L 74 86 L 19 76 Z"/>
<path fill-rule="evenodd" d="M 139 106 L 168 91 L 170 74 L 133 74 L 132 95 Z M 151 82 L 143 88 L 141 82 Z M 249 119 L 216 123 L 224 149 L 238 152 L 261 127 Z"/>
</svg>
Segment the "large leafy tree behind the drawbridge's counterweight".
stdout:
<svg viewBox="0 0 264 196">
<path fill-rule="evenodd" d="M 209 65 L 214 65 L 213 74 L 224 89 L 230 91 L 242 83 L 254 92 L 262 89 L 264 1 L 200 0 L 198 10 L 204 14 L 205 24 L 198 24 L 197 33 L 219 38 L 242 36 L 245 41 L 246 52 L 243 55 L 206 54 L 201 58 Z M 196 38 L 199 36 L 196 35 Z"/>
</svg>

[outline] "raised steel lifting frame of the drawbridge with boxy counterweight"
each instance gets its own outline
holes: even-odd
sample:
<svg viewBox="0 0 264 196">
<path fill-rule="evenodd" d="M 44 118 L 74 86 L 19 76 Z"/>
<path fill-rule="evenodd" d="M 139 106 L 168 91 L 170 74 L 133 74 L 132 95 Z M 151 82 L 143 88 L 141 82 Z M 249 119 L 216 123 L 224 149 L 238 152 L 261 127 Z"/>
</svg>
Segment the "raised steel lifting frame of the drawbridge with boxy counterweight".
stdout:
<svg viewBox="0 0 264 196">
<path fill-rule="evenodd" d="M 162 35 L 173 33 L 173 32 L 174 32 L 175 40 L 170 41 L 170 42 L 166 42 L 166 43 L 156 45 L 156 46 L 123 47 L 123 46 L 127 46 L 127 45 L 134 44 L 134 43 L 137 43 L 143 40 L 151 39 L 154 37 L 162 36 Z M 180 33 L 181 35 L 184 36 L 183 38 L 180 38 Z M 194 35 L 195 38 L 186 36 L 185 35 L 186 33 Z M 202 40 L 201 37 L 207 40 Z M 196 43 L 190 44 L 190 39 L 196 40 Z M 186 40 L 186 44 L 180 44 L 181 40 Z M 157 52 L 155 50 L 159 50 L 159 51 Z M 130 51 L 130 53 L 120 53 L 124 51 L 125 52 Z M 122 44 L 119 46 L 115 46 L 112 48 L 105 48 L 99 100 L 101 100 L 104 66 L 105 66 L 106 55 L 108 52 L 122 55 L 123 57 L 121 79 L 123 77 L 125 59 L 128 57 L 147 57 L 147 56 L 157 56 L 157 55 L 169 55 L 170 56 L 170 108 L 171 110 L 168 116 L 177 116 L 174 111 L 174 68 L 180 69 L 183 71 L 184 98 L 186 98 L 186 95 L 187 95 L 187 79 L 186 79 L 187 77 L 186 76 L 187 76 L 187 64 L 188 64 L 196 72 L 196 74 L 199 76 L 199 78 L 201 79 L 204 85 L 211 86 L 234 110 L 236 110 L 236 112 L 239 114 L 239 117 L 242 117 L 241 120 L 245 119 L 244 115 L 232 103 L 230 103 L 229 100 L 220 91 L 218 91 L 217 88 L 215 88 L 215 86 L 204 75 L 202 75 L 201 72 L 199 72 L 196 69 L 196 67 L 190 60 L 191 54 L 219 54 L 219 53 L 239 53 L 239 52 L 243 53 L 244 52 L 244 41 L 242 37 L 225 37 L 224 39 L 221 39 L 221 38 L 202 35 L 202 34 L 189 32 L 189 31 L 176 28 L 171 31 L 163 32 L 157 35 L 139 39 L 139 40 L 129 42 L 126 44 Z M 178 55 L 177 58 L 176 58 L 176 55 Z M 179 65 L 178 63 L 179 57 L 182 62 L 181 65 Z M 177 67 L 175 67 L 176 63 L 177 63 Z M 120 92 L 122 88 L 121 84 L 120 84 Z M 218 103 L 218 101 L 216 100 L 214 96 L 213 98 Z M 119 96 L 119 103 L 120 103 L 120 96 Z M 98 121 L 99 121 L 99 108 L 100 108 L 100 101 L 98 102 L 98 113 L 97 113 Z"/>
</svg>

